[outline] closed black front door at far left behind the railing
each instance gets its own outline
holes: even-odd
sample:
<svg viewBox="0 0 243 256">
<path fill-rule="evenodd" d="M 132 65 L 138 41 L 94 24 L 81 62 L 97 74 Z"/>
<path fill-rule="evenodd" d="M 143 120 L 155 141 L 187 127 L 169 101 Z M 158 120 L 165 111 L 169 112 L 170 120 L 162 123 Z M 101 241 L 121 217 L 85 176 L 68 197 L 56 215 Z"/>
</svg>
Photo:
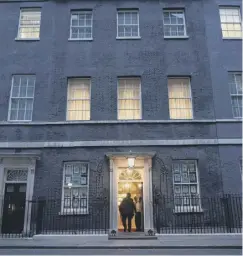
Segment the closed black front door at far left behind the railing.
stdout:
<svg viewBox="0 0 243 256">
<path fill-rule="evenodd" d="M 24 229 L 26 184 L 5 185 L 2 233 L 21 233 Z"/>
</svg>

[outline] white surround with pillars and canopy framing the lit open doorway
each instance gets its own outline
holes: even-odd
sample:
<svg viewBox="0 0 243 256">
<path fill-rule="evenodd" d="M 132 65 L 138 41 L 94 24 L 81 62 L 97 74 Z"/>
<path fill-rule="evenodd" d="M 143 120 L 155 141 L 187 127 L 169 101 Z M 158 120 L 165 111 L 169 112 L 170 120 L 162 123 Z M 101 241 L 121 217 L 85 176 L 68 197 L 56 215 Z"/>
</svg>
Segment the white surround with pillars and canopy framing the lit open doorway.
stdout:
<svg viewBox="0 0 243 256">
<path fill-rule="evenodd" d="M 143 202 L 144 202 L 144 232 L 145 235 L 154 233 L 153 227 L 153 197 L 152 197 L 152 158 L 155 152 L 114 152 L 107 153 L 110 162 L 110 227 L 111 235 L 118 231 L 118 168 L 126 165 L 128 157 L 135 157 L 135 166 L 143 167 Z M 124 161 L 126 160 L 126 161 Z M 139 166 L 140 165 L 140 166 Z M 142 166 L 141 166 L 142 165 Z M 128 166 L 127 166 L 128 167 Z M 149 232 L 148 232 L 149 231 Z"/>
</svg>

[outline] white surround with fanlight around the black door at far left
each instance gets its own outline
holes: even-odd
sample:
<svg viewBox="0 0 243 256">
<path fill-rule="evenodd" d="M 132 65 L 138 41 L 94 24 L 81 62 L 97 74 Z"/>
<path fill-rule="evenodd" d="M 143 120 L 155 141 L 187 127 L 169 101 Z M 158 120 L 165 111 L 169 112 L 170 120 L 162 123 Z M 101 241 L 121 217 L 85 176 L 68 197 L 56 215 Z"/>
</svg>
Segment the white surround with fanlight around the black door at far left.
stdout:
<svg viewBox="0 0 243 256">
<path fill-rule="evenodd" d="M 21 154 L 21 153 L 0 153 L 0 232 L 1 232 L 1 220 L 3 214 L 3 203 L 6 183 L 26 183 L 26 203 L 25 215 L 24 215 L 24 230 L 25 234 L 30 232 L 30 220 L 31 220 L 31 200 L 34 190 L 34 178 L 36 160 L 39 159 L 37 154 Z M 7 179 L 8 170 L 23 170 L 27 171 L 27 177 L 23 180 Z"/>
</svg>

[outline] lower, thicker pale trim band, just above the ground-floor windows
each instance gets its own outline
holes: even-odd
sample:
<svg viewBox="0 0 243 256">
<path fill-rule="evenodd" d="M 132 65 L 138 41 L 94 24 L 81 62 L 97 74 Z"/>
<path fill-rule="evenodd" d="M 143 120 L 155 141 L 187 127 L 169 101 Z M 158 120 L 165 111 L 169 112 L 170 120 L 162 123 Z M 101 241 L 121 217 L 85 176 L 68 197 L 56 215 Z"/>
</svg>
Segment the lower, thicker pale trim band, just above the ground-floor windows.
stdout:
<svg viewBox="0 0 243 256">
<path fill-rule="evenodd" d="M 185 139 L 185 140 L 98 140 L 98 141 L 43 141 L 0 142 L 0 148 L 70 148 L 70 147 L 128 147 L 128 146 L 196 146 L 242 145 L 242 139 Z"/>
</svg>

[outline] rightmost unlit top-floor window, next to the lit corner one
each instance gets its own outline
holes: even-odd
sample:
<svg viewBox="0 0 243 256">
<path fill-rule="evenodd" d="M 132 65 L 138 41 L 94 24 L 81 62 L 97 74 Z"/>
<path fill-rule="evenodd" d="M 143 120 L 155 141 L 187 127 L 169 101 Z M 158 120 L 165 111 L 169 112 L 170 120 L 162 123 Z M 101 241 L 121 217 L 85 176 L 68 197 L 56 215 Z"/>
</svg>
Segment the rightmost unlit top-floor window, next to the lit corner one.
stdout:
<svg viewBox="0 0 243 256">
<path fill-rule="evenodd" d="M 186 37 L 185 13 L 183 10 L 164 10 L 164 36 Z"/>
</svg>

